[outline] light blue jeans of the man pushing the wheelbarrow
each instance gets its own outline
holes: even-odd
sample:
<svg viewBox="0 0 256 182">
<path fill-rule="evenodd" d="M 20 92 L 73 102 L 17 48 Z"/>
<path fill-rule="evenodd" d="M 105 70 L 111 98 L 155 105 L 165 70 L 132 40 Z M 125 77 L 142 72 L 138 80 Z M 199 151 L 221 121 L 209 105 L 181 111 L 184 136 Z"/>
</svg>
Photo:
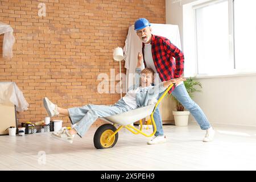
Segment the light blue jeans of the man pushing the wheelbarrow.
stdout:
<svg viewBox="0 0 256 182">
<path fill-rule="evenodd" d="M 160 93 L 158 98 L 163 95 L 164 92 Z M 176 86 L 174 91 L 172 91 L 172 96 L 174 96 L 196 119 L 202 130 L 207 130 L 210 128 L 210 123 L 205 116 L 203 110 L 197 105 L 188 95 L 187 89 L 184 84 Z M 159 106 L 156 108 L 154 113 L 154 120 L 156 125 L 155 136 L 164 135 L 162 118 L 160 116 Z"/>
</svg>

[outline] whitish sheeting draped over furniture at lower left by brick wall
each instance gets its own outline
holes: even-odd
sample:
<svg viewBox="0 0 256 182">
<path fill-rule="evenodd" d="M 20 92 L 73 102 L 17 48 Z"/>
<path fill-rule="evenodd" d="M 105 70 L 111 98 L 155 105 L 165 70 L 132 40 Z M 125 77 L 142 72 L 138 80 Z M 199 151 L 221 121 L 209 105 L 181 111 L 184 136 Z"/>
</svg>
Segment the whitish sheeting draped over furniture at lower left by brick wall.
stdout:
<svg viewBox="0 0 256 182">
<path fill-rule="evenodd" d="M 28 103 L 15 82 L 0 82 L 0 104 L 14 104 L 16 111 L 27 110 Z"/>
</svg>

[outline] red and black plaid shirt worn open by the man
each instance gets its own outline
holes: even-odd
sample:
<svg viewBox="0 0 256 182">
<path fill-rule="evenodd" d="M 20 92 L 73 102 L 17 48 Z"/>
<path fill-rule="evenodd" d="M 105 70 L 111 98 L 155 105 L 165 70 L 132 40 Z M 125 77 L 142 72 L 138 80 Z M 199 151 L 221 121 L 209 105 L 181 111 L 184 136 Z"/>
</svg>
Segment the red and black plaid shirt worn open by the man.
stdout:
<svg viewBox="0 0 256 182">
<path fill-rule="evenodd" d="M 142 43 L 143 57 L 145 57 L 144 46 L 144 43 Z M 174 46 L 170 40 L 162 36 L 152 35 L 151 50 L 156 71 L 162 81 L 179 78 L 183 74 L 183 52 Z M 144 65 L 147 67 L 145 60 Z M 169 93 L 171 93 L 172 90 L 174 90 L 174 87 L 170 89 Z"/>
</svg>

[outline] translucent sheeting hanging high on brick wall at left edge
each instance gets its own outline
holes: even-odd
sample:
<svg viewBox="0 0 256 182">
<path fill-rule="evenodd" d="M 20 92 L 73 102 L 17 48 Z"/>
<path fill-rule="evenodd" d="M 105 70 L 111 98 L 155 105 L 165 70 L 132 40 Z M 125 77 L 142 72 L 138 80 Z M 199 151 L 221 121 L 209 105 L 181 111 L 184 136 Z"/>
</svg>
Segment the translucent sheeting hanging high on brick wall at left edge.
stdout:
<svg viewBox="0 0 256 182">
<path fill-rule="evenodd" d="M 0 22 L 0 35 L 3 36 L 3 57 L 11 59 L 13 57 L 13 44 L 15 38 L 13 36 L 13 28 L 9 24 Z"/>
</svg>

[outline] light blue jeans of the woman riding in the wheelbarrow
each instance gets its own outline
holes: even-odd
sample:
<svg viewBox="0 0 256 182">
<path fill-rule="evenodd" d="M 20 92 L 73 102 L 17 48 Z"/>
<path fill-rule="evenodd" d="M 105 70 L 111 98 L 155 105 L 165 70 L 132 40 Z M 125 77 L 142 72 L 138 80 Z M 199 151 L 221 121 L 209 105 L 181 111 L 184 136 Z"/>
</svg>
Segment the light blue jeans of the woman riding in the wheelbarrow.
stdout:
<svg viewBox="0 0 256 182">
<path fill-rule="evenodd" d="M 69 108 L 68 113 L 72 125 L 76 124 L 73 129 L 75 129 L 77 134 L 82 137 L 98 117 L 121 114 L 132 109 L 133 108 L 128 106 L 125 101 L 121 99 L 110 106 L 89 104 L 82 107 Z"/>
</svg>

